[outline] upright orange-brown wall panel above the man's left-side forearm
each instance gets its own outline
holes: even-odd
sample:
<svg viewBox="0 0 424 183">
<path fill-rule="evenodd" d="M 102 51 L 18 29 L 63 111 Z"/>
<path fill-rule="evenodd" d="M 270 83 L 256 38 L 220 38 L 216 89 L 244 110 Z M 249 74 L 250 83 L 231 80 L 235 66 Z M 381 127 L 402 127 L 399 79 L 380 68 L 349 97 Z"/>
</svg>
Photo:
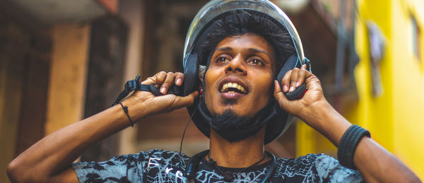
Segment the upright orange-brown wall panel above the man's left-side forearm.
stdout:
<svg viewBox="0 0 424 183">
<path fill-rule="evenodd" d="M 89 32 L 89 25 L 67 24 L 52 28 L 46 135 L 83 118 Z"/>
</svg>

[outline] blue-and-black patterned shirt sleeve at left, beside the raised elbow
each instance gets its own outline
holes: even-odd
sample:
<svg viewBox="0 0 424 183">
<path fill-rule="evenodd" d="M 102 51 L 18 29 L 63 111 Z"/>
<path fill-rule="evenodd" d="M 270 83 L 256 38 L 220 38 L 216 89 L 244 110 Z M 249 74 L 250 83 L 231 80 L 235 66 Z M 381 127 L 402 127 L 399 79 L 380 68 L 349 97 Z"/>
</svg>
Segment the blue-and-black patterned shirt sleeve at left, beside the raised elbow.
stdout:
<svg viewBox="0 0 424 183">
<path fill-rule="evenodd" d="M 143 155 L 122 155 L 102 162 L 78 162 L 71 166 L 79 182 L 142 182 Z"/>
</svg>

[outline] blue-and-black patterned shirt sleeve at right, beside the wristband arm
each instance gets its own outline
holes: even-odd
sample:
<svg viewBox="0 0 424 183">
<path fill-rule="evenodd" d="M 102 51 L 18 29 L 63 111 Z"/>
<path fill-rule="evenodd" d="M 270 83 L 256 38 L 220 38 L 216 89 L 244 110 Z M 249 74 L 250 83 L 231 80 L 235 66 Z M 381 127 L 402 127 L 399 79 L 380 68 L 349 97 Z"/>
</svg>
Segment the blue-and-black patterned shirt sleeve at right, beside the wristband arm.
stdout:
<svg viewBox="0 0 424 183">
<path fill-rule="evenodd" d="M 358 170 L 343 167 L 338 160 L 325 154 L 317 157 L 314 167 L 322 182 L 363 182 Z"/>
</svg>

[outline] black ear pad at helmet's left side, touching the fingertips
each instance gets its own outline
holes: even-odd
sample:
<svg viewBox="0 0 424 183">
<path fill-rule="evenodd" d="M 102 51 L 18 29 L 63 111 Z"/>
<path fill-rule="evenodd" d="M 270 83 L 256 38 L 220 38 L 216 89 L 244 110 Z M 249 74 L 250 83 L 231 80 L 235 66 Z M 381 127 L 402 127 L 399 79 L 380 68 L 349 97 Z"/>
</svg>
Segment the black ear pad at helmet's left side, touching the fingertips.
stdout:
<svg viewBox="0 0 424 183">
<path fill-rule="evenodd" d="M 199 58 L 197 53 L 190 53 L 184 67 L 184 96 L 199 89 Z"/>
</svg>

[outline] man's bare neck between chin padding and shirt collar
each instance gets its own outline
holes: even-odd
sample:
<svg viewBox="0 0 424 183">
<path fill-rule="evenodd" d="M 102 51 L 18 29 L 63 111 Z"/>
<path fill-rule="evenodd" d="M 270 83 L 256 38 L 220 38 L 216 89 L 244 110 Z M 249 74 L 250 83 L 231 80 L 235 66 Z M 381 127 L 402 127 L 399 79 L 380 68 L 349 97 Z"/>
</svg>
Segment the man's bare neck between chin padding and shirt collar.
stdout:
<svg viewBox="0 0 424 183">
<path fill-rule="evenodd" d="M 223 139 L 215 130 L 211 129 L 209 157 L 215 160 L 218 166 L 227 168 L 245 168 L 257 163 L 264 157 L 265 153 L 265 127 L 252 137 L 234 142 Z M 269 157 L 266 157 L 259 164 L 266 162 L 266 160 L 269 160 Z"/>
</svg>

